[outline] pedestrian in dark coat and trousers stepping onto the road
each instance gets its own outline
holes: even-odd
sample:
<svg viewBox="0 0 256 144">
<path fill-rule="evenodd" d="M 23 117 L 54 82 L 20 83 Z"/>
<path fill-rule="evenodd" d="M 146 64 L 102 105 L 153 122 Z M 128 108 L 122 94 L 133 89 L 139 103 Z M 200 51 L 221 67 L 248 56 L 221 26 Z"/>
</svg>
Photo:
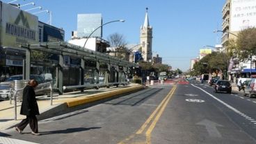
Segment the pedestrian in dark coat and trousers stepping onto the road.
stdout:
<svg viewBox="0 0 256 144">
<path fill-rule="evenodd" d="M 31 79 L 28 85 L 23 90 L 22 95 L 22 107 L 20 109 L 21 115 L 26 115 L 26 119 L 19 122 L 15 130 L 22 134 L 26 125 L 29 124 L 31 128 L 31 134 L 38 136 L 38 119 L 35 115 L 39 115 L 38 102 L 35 99 L 35 88 L 38 86 L 38 81 Z"/>
</svg>

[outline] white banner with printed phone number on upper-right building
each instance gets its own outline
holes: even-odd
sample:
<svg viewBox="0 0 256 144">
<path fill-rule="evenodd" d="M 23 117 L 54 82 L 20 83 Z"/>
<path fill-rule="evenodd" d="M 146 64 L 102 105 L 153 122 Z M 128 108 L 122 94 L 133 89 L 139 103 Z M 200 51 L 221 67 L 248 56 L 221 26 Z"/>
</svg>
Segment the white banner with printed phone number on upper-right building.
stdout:
<svg viewBox="0 0 256 144">
<path fill-rule="evenodd" d="M 256 26 L 256 0 L 232 0 L 230 31 Z"/>
</svg>

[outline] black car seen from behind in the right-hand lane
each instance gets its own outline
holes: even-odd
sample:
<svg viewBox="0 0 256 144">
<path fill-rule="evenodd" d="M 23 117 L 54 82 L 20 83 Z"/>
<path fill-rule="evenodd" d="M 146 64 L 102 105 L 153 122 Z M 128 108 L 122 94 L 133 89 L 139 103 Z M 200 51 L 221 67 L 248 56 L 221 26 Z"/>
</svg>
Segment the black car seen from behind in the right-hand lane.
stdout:
<svg viewBox="0 0 256 144">
<path fill-rule="evenodd" d="M 218 93 L 218 92 L 231 93 L 231 91 L 232 91 L 232 86 L 230 84 L 230 81 L 218 80 L 214 86 L 214 93 Z"/>
</svg>

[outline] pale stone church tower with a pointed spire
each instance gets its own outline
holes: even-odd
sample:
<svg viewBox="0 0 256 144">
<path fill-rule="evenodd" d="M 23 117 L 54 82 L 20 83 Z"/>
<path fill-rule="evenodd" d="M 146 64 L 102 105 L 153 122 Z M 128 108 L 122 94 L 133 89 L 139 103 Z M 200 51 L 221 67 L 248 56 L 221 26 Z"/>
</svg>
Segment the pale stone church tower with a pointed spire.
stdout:
<svg viewBox="0 0 256 144">
<path fill-rule="evenodd" d="M 141 26 L 141 52 L 144 61 L 152 61 L 152 26 L 150 26 L 147 10 L 148 8 L 146 8 L 144 24 Z"/>
</svg>

